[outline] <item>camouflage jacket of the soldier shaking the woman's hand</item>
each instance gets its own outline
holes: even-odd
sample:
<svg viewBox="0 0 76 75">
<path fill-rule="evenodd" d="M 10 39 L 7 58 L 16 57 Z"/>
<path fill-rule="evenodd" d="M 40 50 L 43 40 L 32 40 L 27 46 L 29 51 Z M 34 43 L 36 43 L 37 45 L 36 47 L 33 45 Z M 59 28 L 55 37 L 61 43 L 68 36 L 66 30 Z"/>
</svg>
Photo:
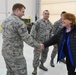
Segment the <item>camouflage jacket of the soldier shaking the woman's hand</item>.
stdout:
<svg viewBox="0 0 76 75">
<path fill-rule="evenodd" d="M 24 22 L 15 14 L 9 16 L 2 24 L 3 45 L 2 54 L 5 58 L 20 58 L 23 56 L 23 41 L 32 47 L 39 44 L 28 34 Z"/>
</svg>

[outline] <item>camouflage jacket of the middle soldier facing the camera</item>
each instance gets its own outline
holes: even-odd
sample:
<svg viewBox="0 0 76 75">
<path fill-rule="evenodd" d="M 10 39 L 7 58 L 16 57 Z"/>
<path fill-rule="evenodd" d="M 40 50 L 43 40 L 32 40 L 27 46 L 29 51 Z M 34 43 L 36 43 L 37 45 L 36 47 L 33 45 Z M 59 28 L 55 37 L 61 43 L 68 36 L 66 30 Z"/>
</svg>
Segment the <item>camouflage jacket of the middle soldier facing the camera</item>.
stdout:
<svg viewBox="0 0 76 75">
<path fill-rule="evenodd" d="M 31 29 L 31 36 L 39 43 L 49 39 L 52 31 L 52 23 L 48 20 L 46 23 L 43 19 L 37 20 Z"/>
</svg>

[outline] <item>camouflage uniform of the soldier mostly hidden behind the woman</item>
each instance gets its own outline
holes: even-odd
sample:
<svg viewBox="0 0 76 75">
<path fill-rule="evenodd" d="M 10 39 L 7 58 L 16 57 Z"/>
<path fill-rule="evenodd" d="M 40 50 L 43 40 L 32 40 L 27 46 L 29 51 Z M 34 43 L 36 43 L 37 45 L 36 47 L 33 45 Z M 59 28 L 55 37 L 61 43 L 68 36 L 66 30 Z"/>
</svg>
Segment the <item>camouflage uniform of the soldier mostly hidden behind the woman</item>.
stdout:
<svg viewBox="0 0 76 75">
<path fill-rule="evenodd" d="M 54 23 L 52 33 L 55 34 L 60 28 L 62 28 L 61 19 L 59 19 L 58 21 L 56 21 Z M 54 49 L 52 51 L 51 58 L 54 59 L 57 53 L 58 53 L 58 47 L 57 47 L 57 45 L 54 45 Z"/>
</svg>

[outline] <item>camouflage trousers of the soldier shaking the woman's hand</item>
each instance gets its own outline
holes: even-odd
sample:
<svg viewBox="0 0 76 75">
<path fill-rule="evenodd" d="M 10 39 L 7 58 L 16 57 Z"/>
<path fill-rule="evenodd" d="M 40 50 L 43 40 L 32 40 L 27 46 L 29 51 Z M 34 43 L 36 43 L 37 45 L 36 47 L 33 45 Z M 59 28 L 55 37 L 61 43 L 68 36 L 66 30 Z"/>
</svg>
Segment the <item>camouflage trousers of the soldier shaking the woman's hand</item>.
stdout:
<svg viewBox="0 0 76 75">
<path fill-rule="evenodd" d="M 25 58 L 18 58 L 12 61 L 5 59 L 7 74 L 6 75 L 27 75 L 27 66 Z"/>
</svg>

